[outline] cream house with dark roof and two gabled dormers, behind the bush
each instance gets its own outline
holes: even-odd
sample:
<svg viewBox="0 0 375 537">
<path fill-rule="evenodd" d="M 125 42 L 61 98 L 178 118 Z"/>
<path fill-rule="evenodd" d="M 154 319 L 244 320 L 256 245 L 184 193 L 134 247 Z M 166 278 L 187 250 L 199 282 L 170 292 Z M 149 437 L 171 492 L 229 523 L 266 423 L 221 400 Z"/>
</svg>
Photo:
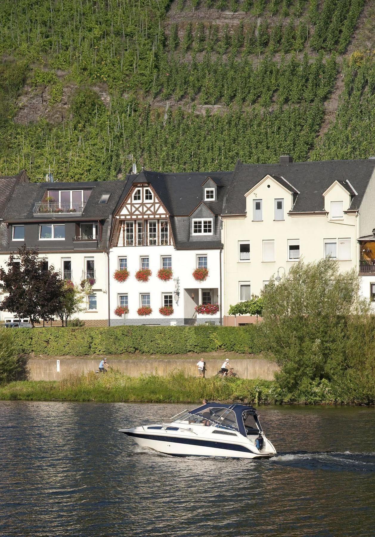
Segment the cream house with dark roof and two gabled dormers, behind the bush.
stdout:
<svg viewBox="0 0 375 537">
<path fill-rule="evenodd" d="M 299 259 L 330 256 L 342 271 L 359 270 L 358 238 L 375 228 L 374 170 L 375 159 L 293 163 L 283 156 L 278 164 L 236 164 L 222 215 L 225 324 L 236 322 L 227 315 L 231 304 L 260 295 Z M 373 289 L 373 299 L 374 265 L 362 286 L 369 298 Z"/>
</svg>

